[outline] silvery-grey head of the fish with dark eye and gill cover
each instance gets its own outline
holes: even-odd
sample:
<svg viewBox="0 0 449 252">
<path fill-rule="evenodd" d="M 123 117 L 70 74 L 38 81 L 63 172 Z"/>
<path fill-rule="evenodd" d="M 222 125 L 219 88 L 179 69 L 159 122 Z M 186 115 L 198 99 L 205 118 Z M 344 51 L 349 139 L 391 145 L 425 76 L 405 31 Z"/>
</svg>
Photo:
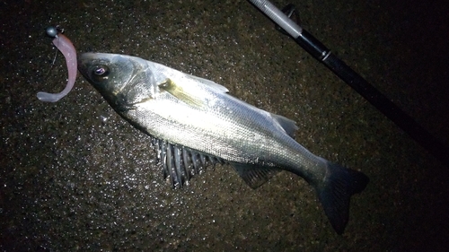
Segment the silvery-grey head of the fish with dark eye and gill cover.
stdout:
<svg viewBox="0 0 449 252">
<path fill-rule="evenodd" d="M 154 73 L 148 61 L 141 58 L 84 53 L 78 57 L 78 70 L 114 109 L 131 109 L 154 97 Z"/>
</svg>

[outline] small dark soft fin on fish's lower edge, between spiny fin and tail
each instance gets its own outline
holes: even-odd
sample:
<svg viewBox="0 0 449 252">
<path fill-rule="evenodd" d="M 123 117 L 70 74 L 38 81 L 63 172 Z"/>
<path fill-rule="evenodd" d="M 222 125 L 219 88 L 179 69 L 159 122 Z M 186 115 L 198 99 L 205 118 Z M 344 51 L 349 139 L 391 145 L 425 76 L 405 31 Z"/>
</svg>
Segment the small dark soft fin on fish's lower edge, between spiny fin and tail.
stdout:
<svg viewBox="0 0 449 252">
<path fill-rule="evenodd" d="M 269 178 L 273 178 L 280 169 L 254 164 L 233 163 L 233 168 L 251 188 L 262 186 Z"/>
</svg>

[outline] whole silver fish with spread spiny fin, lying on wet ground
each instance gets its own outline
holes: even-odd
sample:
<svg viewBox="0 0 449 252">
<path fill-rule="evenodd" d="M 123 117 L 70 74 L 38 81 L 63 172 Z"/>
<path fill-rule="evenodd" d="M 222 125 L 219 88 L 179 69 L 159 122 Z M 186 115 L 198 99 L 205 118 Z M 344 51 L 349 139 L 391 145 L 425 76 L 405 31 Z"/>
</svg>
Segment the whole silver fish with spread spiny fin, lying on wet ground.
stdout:
<svg viewBox="0 0 449 252">
<path fill-rule="evenodd" d="M 295 121 L 239 100 L 218 83 L 119 54 L 84 53 L 78 70 L 121 117 L 150 136 L 172 187 L 216 164 L 231 165 L 252 188 L 286 170 L 314 188 L 341 234 L 350 197 L 368 184 L 364 173 L 297 143 Z"/>
</svg>

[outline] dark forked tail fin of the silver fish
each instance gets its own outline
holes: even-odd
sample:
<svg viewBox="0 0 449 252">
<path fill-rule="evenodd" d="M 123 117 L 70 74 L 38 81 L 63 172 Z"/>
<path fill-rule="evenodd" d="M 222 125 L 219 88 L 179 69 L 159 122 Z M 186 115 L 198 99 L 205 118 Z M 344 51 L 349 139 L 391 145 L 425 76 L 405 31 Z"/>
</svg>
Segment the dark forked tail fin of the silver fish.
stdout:
<svg viewBox="0 0 449 252">
<path fill-rule="evenodd" d="M 315 185 L 324 213 L 330 224 L 342 234 L 348 224 L 349 198 L 363 191 L 369 178 L 362 172 L 328 162 L 326 178 Z"/>
</svg>

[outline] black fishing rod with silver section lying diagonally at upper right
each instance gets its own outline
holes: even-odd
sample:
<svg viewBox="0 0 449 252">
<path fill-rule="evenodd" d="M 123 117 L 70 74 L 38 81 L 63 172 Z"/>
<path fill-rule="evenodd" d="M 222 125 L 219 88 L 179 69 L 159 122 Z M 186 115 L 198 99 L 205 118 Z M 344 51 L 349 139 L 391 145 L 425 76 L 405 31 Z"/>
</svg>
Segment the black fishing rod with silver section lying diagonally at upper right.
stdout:
<svg viewBox="0 0 449 252">
<path fill-rule="evenodd" d="M 285 30 L 305 51 L 326 65 L 341 80 L 362 95 L 365 100 L 368 100 L 376 109 L 379 109 L 383 115 L 401 127 L 404 132 L 424 147 L 427 152 L 430 152 L 446 167 L 449 167 L 449 149 L 445 144 L 428 133 L 424 127 L 418 125 L 412 117 L 409 117 L 396 104 L 386 98 L 380 91 L 377 91 L 374 86 L 352 70 L 339 57 L 332 54 L 329 48 L 326 48 L 307 30 L 304 30 L 296 22 L 291 20 L 286 13 L 277 9 L 274 4 L 266 0 L 249 1 L 259 8 L 262 13 L 265 13 L 282 30 Z M 290 10 L 288 14 L 291 15 L 291 13 L 292 11 Z"/>
</svg>

